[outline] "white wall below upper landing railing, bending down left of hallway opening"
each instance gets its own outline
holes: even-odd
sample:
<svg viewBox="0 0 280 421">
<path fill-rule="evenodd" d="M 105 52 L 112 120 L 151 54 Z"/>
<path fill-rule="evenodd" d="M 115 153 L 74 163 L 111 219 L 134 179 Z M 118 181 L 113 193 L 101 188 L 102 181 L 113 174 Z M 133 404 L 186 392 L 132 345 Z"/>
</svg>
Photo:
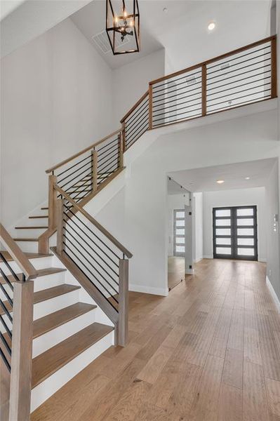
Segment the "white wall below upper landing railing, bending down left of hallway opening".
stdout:
<svg viewBox="0 0 280 421">
<path fill-rule="evenodd" d="M 167 288 L 166 174 L 278 156 L 276 112 L 160 136 L 128 168 L 126 232 L 128 249 L 133 253 L 133 285 L 159 294 Z"/>
</svg>

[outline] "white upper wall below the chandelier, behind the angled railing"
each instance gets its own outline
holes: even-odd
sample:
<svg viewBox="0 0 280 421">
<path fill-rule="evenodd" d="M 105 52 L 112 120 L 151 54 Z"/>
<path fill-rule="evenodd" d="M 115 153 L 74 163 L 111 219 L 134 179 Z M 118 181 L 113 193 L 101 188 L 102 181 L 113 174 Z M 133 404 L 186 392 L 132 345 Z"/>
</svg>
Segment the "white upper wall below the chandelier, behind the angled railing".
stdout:
<svg viewBox="0 0 280 421">
<path fill-rule="evenodd" d="M 164 76 L 164 56 L 162 48 L 128 65 L 113 70 L 114 125 L 142 97 L 149 88 L 149 81 Z"/>
</svg>

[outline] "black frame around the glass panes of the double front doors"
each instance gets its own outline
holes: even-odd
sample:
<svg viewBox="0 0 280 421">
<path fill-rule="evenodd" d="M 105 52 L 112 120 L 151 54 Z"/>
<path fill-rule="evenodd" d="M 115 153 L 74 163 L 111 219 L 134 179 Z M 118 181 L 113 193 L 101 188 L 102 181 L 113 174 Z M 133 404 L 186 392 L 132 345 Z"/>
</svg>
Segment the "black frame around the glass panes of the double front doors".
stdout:
<svg viewBox="0 0 280 421">
<path fill-rule="evenodd" d="M 248 216 L 237 216 L 237 210 L 238 209 L 248 209 L 253 208 L 253 215 Z M 215 212 L 216 210 L 228 210 L 230 209 L 230 216 L 216 216 Z M 238 219 L 252 219 L 253 218 L 253 225 L 237 225 Z M 216 225 L 216 220 L 231 220 L 231 225 Z M 229 229 L 231 228 L 231 235 L 217 235 L 216 234 L 216 228 L 218 229 Z M 237 235 L 237 229 L 238 228 L 253 228 L 253 235 L 246 235 L 241 236 Z M 232 239 L 232 243 L 230 245 L 227 244 L 217 244 L 216 239 L 219 238 L 230 238 Z M 244 245 L 238 245 L 237 239 L 240 238 L 246 238 L 246 239 L 254 239 L 254 245 L 253 246 L 244 246 Z M 220 246 L 222 248 L 232 248 L 232 254 L 220 254 L 216 253 L 216 247 Z M 244 256 L 244 255 L 238 255 L 237 254 L 237 248 L 253 248 L 254 249 L 254 255 L 253 256 Z M 214 259 L 233 259 L 233 260 L 258 260 L 258 223 L 257 223 L 257 206 L 256 205 L 250 205 L 250 206 L 222 206 L 220 208 L 213 208 L 213 258 Z"/>
</svg>

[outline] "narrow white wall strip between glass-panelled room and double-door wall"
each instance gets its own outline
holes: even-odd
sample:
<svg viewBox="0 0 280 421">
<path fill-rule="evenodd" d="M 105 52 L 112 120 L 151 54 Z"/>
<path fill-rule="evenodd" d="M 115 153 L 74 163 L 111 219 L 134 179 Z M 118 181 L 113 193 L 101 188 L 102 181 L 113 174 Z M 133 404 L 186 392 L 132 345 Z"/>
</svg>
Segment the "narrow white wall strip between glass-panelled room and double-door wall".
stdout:
<svg viewBox="0 0 280 421">
<path fill-rule="evenodd" d="M 194 227 L 193 227 L 193 247 L 194 262 L 199 262 L 204 257 L 204 210 L 203 210 L 203 194 L 195 192 L 193 194 L 194 209 Z"/>
</svg>

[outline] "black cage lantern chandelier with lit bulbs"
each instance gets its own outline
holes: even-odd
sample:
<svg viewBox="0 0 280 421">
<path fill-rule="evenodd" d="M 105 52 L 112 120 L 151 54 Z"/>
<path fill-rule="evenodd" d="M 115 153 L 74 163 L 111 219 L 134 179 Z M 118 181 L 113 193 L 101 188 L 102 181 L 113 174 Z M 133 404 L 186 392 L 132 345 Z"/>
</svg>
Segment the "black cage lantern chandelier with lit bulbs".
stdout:
<svg viewBox="0 0 280 421">
<path fill-rule="evenodd" d="M 140 50 L 139 20 L 138 0 L 106 0 L 106 32 L 114 55 Z"/>
</svg>

